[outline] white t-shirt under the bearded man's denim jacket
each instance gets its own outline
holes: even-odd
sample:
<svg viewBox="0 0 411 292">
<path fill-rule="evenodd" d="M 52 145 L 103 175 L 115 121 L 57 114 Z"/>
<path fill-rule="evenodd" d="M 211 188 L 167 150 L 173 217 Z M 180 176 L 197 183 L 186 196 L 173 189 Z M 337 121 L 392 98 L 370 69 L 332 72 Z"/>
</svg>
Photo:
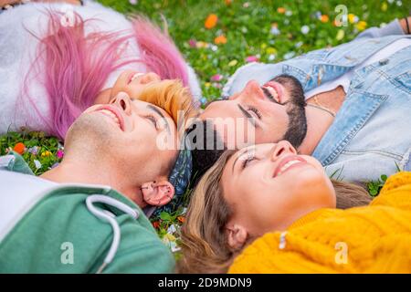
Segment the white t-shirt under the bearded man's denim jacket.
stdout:
<svg viewBox="0 0 411 292">
<path fill-rule="evenodd" d="M 411 38 L 400 38 L 396 40 L 394 43 L 391 43 L 390 45 L 380 49 L 373 56 L 365 59 L 363 63 L 355 66 L 353 69 L 346 72 L 341 77 L 325 82 L 321 84 L 319 87 L 307 91 L 305 93 L 305 99 L 310 99 L 316 94 L 336 89 L 339 86 L 342 86 L 344 92 L 347 93 L 350 87 L 351 80 L 353 79 L 353 73 L 356 69 L 364 68 L 365 66 L 370 65 L 374 62 L 378 62 L 379 60 L 382 60 L 386 57 L 390 57 L 391 55 L 395 54 L 395 52 L 408 46 L 411 46 Z"/>
</svg>

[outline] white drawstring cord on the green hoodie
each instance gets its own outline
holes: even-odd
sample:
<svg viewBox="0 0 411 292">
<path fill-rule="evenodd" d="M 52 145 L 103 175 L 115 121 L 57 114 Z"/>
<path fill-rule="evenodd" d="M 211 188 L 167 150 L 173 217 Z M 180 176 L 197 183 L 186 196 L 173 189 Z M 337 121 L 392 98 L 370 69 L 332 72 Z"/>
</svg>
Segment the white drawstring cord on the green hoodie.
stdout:
<svg viewBox="0 0 411 292">
<path fill-rule="evenodd" d="M 107 210 L 101 210 L 95 207 L 93 203 L 104 203 L 104 204 L 111 205 L 121 210 L 122 212 L 131 215 L 132 218 L 134 219 L 137 219 L 139 217 L 139 212 L 135 209 L 132 209 L 130 206 L 126 205 L 125 203 L 121 203 L 120 201 L 117 201 L 111 197 L 108 197 L 102 194 L 92 194 L 87 197 L 86 205 L 90 213 L 94 214 L 96 217 L 100 218 L 101 220 L 106 221 L 109 224 L 111 224 L 112 231 L 113 231 L 113 238 L 112 238 L 109 253 L 104 258 L 103 264 L 99 267 L 96 273 L 96 274 L 100 274 L 102 270 L 111 263 L 112 259 L 114 258 L 114 255 L 117 253 L 117 249 L 119 248 L 119 245 L 120 245 L 121 232 L 120 232 L 120 226 L 115 220 L 116 216 Z"/>
</svg>

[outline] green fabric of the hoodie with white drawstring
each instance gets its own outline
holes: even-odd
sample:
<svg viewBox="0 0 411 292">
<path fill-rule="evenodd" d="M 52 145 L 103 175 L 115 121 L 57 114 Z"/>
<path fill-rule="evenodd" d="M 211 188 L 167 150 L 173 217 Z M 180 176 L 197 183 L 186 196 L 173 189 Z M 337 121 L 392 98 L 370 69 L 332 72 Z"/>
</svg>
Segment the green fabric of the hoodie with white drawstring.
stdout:
<svg viewBox="0 0 411 292">
<path fill-rule="evenodd" d="M 32 175 L 27 174 L 26 162 L 12 154 L 14 158 L 3 165 L 2 172 Z M 86 199 L 95 194 L 115 199 L 139 213 L 134 219 L 110 204 L 94 204 L 115 215 L 121 233 L 115 256 L 102 272 L 172 273 L 174 257 L 139 206 L 110 187 L 63 184 L 47 190 L 24 214 L 17 214 L 20 218 L 12 227 L 9 224 L 0 238 L 0 273 L 96 273 L 111 248 L 113 227 L 87 207 Z M 0 202 L 8 202 L 13 195 L 16 193 L 1 192 Z"/>
</svg>

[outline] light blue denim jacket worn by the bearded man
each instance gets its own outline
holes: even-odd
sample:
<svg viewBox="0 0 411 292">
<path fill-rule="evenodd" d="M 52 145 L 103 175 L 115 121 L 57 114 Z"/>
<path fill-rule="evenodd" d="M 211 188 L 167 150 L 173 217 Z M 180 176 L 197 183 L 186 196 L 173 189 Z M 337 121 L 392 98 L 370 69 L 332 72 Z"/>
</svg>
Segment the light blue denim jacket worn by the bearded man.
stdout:
<svg viewBox="0 0 411 292">
<path fill-rule="evenodd" d="M 280 74 L 298 78 L 307 92 L 342 76 L 402 37 L 411 36 L 405 36 L 395 20 L 338 47 L 277 64 L 251 63 L 237 70 L 223 94 L 243 89 L 250 79 L 264 84 Z M 411 47 L 354 71 L 342 107 L 312 156 L 329 175 L 352 182 L 411 169 Z"/>
</svg>

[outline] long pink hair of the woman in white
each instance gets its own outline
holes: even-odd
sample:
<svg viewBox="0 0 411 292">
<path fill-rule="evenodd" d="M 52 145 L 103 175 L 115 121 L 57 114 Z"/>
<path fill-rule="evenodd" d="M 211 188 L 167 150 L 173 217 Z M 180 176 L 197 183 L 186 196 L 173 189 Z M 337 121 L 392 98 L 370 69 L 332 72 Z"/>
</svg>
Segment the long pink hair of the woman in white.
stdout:
<svg viewBox="0 0 411 292">
<path fill-rule="evenodd" d="M 184 58 L 173 41 L 141 16 L 132 18 L 133 32 L 127 36 L 123 31 L 85 36 L 85 25 L 92 19 L 84 21 L 75 14 L 74 24 L 63 26 L 61 13 L 48 11 L 48 16 L 47 34 L 40 39 L 37 58 L 26 75 L 23 91 L 47 124 L 49 133 L 60 139 L 64 139 L 79 114 L 94 104 L 111 72 L 124 65 L 141 62 L 161 78 L 179 78 L 184 85 L 188 83 Z M 132 37 L 142 56 L 121 61 L 121 47 Z M 44 78 L 49 117 L 41 114 L 28 94 L 28 77 L 40 64 L 44 72 L 37 72 L 36 76 Z"/>
</svg>

